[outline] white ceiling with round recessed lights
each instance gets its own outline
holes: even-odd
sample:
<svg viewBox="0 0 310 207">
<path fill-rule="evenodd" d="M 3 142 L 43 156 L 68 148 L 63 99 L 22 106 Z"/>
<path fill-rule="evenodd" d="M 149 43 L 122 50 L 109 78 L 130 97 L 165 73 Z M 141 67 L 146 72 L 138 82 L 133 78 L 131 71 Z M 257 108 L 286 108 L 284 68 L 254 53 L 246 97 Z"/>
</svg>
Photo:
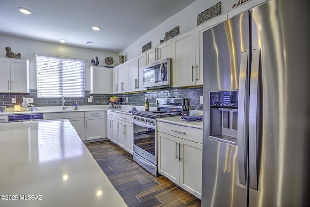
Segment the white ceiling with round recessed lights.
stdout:
<svg viewBox="0 0 310 207">
<path fill-rule="evenodd" d="M 71 46 L 120 52 L 194 1 L 0 0 L 0 33 L 53 43 L 65 39 Z M 32 14 L 22 14 L 18 7 Z M 101 30 L 94 31 L 93 25 Z"/>
</svg>

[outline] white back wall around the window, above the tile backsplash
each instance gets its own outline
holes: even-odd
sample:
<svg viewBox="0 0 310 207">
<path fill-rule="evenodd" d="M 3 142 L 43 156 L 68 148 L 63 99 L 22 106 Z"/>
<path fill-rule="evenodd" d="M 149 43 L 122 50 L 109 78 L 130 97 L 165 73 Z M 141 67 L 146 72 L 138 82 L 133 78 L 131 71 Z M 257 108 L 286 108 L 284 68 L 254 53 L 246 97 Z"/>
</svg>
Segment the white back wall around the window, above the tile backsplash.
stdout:
<svg viewBox="0 0 310 207">
<path fill-rule="evenodd" d="M 98 56 L 99 65 L 105 66 L 105 59 L 111 56 L 114 59 L 114 63 L 111 66 L 116 66 L 118 61 L 118 54 L 112 52 L 105 52 L 101 50 L 78 48 L 72 46 L 66 46 L 63 44 L 47 43 L 42 41 L 35 41 L 30 39 L 12 37 L 0 34 L 0 57 L 5 57 L 5 48 L 10 47 L 12 52 L 20 53 L 21 59 L 29 60 L 29 81 L 30 89 L 36 89 L 36 58 L 34 53 L 44 53 L 59 56 L 74 57 L 79 59 L 86 59 L 85 64 L 85 90 L 90 90 L 90 66 L 92 59 Z"/>
</svg>

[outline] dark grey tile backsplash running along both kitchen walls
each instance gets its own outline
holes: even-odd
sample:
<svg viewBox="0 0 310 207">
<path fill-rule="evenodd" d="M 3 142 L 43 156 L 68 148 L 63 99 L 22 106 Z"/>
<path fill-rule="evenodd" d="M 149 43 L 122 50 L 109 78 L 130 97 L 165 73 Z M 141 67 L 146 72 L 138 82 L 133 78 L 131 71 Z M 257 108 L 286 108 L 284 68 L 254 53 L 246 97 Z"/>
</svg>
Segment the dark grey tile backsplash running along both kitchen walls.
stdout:
<svg viewBox="0 0 310 207">
<path fill-rule="evenodd" d="M 202 87 L 200 88 L 171 88 L 161 89 L 156 91 L 145 91 L 139 93 L 127 94 L 93 94 L 93 102 L 88 103 L 87 98 L 90 97 L 90 91 L 85 91 L 85 97 L 65 97 L 65 106 L 74 106 L 75 102 L 78 105 L 107 105 L 111 96 L 117 96 L 120 105 L 135 105 L 144 106 L 145 97 L 148 98 L 150 106 L 156 106 L 156 98 L 164 97 L 181 97 L 190 99 L 191 110 L 202 110 L 202 104 L 199 104 L 199 96 L 202 96 Z M 29 94 L 16 93 L 0 93 L 0 106 L 13 107 L 11 98 L 16 98 L 17 104 L 22 104 L 23 97 L 31 97 L 34 100 L 34 105 L 42 106 L 62 106 L 62 97 L 37 97 L 37 90 L 30 90 Z M 128 102 L 126 101 L 128 98 Z"/>
</svg>

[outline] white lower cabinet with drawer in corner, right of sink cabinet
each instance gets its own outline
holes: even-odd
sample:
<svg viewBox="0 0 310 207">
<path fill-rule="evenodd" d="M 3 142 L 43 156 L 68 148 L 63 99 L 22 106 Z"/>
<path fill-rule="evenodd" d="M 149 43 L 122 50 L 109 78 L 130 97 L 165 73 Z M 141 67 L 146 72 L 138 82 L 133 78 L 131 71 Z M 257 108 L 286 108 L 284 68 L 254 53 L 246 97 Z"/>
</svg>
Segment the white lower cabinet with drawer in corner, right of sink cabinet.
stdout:
<svg viewBox="0 0 310 207">
<path fill-rule="evenodd" d="M 85 140 L 107 137 L 105 111 L 85 112 Z"/>
</svg>

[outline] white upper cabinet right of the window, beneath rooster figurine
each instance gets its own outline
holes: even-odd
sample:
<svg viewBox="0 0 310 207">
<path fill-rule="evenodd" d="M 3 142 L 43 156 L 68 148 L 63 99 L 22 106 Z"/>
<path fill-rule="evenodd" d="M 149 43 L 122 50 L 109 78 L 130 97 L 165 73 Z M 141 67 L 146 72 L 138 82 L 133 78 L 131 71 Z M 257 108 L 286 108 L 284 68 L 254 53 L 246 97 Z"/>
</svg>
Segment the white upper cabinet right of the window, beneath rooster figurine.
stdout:
<svg viewBox="0 0 310 207">
<path fill-rule="evenodd" d="M 113 69 L 107 67 L 91 68 L 91 94 L 113 93 Z"/>
</svg>

